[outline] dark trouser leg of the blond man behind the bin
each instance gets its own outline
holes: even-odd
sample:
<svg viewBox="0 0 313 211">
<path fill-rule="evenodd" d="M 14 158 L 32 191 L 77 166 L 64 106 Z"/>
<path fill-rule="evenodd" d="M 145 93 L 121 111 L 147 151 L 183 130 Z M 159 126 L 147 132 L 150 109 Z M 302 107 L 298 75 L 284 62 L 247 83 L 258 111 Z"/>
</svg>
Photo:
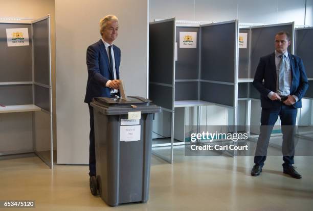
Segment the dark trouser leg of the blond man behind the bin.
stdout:
<svg viewBox="0 0 313 211">
<path fill-rule="evenodd" d="M 89 175 L 96 176 L 96 151 L 95 151 L 95 125 L 94 108 L 88 103 L 90 115 L 90 134 L 89 134 Z"/>
</svg>

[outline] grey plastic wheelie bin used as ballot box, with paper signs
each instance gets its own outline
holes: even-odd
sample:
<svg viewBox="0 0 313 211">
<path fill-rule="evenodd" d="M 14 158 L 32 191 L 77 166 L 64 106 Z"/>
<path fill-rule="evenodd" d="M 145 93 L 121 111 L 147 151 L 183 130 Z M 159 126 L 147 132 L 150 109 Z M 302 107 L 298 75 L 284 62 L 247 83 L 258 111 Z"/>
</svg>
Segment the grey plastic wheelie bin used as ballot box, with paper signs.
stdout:
<svg viewBox="0 0 313 211">
<path fill-rule="evenodd" d="M 95 121 L 95 181 L 99 195 L 109 206 L 147 202 L 153 113 L 161 112 L 161 107 L 143 97 L 128 97 L 127 101 L 99 97 L 94 98 L 91 105 Z M 140 120 L 128 122 L 128 112 L 137 111 L 141 112 Z M 121 140 L 120 133 L 125 133 L 125 128 L 136 129 L 137 137 L 140 128 L 140 140 Z"/>
</svg>

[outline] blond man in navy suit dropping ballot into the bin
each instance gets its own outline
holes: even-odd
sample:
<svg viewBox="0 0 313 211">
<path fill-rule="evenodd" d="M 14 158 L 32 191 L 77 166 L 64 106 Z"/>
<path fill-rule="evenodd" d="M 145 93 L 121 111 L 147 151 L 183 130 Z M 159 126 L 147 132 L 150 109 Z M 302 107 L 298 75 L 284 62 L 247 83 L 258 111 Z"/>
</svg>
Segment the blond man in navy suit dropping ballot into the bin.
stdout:
<svg viewBox="0 0 313 211">
<path fill-rule="evenodd" d="M 118 36 L 119 22 L 114 15 L 100 20 L 101 39 L 87 48 L 88 80 L 84 102 L 90 114 L 89 175 L 96 176 L 94 109 L 90 102 L 94 97 L 118 95 L 121 50 L 113 41 Z"/>
</svg>

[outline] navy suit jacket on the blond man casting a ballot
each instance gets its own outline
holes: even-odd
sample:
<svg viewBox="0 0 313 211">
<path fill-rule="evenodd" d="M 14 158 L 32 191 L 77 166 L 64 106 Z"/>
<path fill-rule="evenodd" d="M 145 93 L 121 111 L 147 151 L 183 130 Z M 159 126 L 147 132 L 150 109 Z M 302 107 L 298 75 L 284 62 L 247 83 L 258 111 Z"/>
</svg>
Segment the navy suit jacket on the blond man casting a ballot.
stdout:
<svg viewBox="0 0 313 211">
<path fill-rule="evenodd" d="M 121 50 L 113 45 L 113 51 L 116 78 L 120 79 Z M 86 62 L 88 80 L 84 102 L 90 103 L 93 97 L 110 97 L 111 89 L 105 87 L 105 84 L 108 80 L 114 80 L 114 75 L 109 68 L 109 59 L 101 39 L 87 48 Z"/>
</svg>

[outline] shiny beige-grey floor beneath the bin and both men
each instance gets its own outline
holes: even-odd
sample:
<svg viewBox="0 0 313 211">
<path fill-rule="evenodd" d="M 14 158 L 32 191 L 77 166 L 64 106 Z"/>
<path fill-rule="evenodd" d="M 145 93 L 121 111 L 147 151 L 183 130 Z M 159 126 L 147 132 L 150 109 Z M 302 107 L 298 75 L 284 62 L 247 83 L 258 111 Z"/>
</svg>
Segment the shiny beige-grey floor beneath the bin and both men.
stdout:
<svg viewBox="0 0 313 211">
<path fill-rule="evenodd" d="M 185 156 L 184 146 L 175 146 L 172 165 L 152 155 L 149 201 L 114 208 L 91 195 L 87 166 L 50 170 L 33 154 L 2 157 L 0 200 L 36 200 L 35 210 L 313 210 L 313 156 L 296 156 L 303 178 L 294 179 L 282 173 L 281 156 L 269 156 L 252 177 L 253 156 L 214 154 Z"/>
</svg>

